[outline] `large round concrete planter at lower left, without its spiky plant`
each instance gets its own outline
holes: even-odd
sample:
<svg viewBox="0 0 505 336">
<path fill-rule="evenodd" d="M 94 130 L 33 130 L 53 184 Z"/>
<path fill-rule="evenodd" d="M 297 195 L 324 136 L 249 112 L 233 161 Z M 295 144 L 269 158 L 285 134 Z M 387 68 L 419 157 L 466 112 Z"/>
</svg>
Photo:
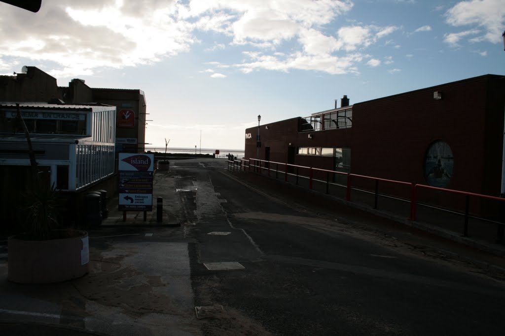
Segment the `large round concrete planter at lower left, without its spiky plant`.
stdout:
<svg viewBox="0 0 505 336">
<path fill-rule="evenodd" d="M 8 276 L 22 284 L 55 283 L 82 277 L 89 272 L 89 243 L 85 231 L 67 238 L 8 240 Z"/>
</svg>

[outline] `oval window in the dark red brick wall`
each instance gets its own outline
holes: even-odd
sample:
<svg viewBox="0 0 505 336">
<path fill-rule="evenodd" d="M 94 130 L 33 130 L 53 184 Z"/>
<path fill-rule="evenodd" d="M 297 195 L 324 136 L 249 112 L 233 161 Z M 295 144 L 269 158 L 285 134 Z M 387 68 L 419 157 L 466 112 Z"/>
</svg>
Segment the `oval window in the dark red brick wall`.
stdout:
<svg viewBox="0 0 505 336">
<path fill-rule="evenodd" d="M 426 182 L 434 187 L 444 188 L 452 177 L 454 157 L 449 145 L 443 141 L 433 142 L 424 158 Z"/>
</svg>

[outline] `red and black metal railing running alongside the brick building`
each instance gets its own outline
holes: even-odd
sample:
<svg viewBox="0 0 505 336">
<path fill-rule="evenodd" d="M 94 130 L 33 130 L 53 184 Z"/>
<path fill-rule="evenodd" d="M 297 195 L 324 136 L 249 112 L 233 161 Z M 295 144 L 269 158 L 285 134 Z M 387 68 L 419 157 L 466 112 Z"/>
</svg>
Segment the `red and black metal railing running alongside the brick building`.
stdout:
<svg viewBox="0 0 505 336">
<path fill-rule="evenodd" d="M 476 215 L 471 215 L 470 214 L 470 197 L 476 197 L 478 199 L 488 199 L 488 200 L 494 200 L 499 202 L 499 206 L 503 207 L 503 212 L 505 213 L 505 198 L 500 198 L 500 197 L 495 197 L 495 196 L 489 196 L 489 195 L 484 195 L 484 194 L 478 194 L 478 193 L 473 193 L 473 192 L 467 192 L 467 191 L 460 191 L 460 190 L 453 190 L 453 189 L 444 189 L 444 188 L 439 188 L 439 187 L 433 187 L 429 185 L 424 185 L 424 184 L 414 184 L 411 182 L 405 182 L 405 181 L 397 181 L 397 180 L 391 180 L 391 179 L 384 179 L 384 178 L 379 178 L 379 177 L 374 177 L 374 176 L 366 176 L 366 175 L 358 175 L 358 174 L 351 174 L 351 173 L 345 173 L 341 171 L 335 171 L 335 170 L 327 170 L 327 169 L 320 169 L 320 168 L 314 168 L 314 167 L 307 167 L 307 166 L 299 166 L 299 165 L 294 165 L 294 164 L 288 164 L 284 162 L 275 162 L 275 161 L 266 161 L 266 160 L 260 160 L 260 159 L 241 159 L 241 160 L 233 160 L 228 162 L 228 169 L 233 170 L 233 171 L 244 171 L 244 172 L 256 172 L 260 175 L 262 174 L 267 174 L 269 177 L 275 177 L 276 179 L 279 178 L 279 175 L 281 175 L 281 178 L 284 177 L 284 181 L 288 182 L 291 178 L 291 181 L 294 182 L 294 184 L 299 185 L 300 179 L 303 179 L 305 181 L 308 181 L 308 188 L 309 189 L 314 189 L 315 182 L 319 184 L 324 184 L 325 186 L 325 193 L 329 193 L 329 188 L 330 187 L 339 187 L 339 188 L 345 188 L 345 200 L 348 202 L 351 202 L 351 195 L 352 195 L 352 190 L 364 192 L 366 194 L 372 194 L 374 195 L 374 206 L 373 209 L 378 209 L 378 200 L 379 196 L 384 197 L 387 199 L 392 199 L 395 201 L 400 201 L 401 203 L 405 204 L 410 204 L 410 214 L 407 217 L 408 220 L 410 221 L 416 221 L 417 220 L 417 214 L 418 214 L 418 206 L 426 207 L 426 208 L 431 208 L 435 209 L 438 211 L 446 212 L 446 213 L 451 213 L 451 214 L 456 214 L 456 215 L 461 215 L 464 217 L 464 226 L 463 226 L 463 236 L 467 237 L 468 236 L 468 222 L 470 218 L 483 221 L 483 222 L 488 222 L 488 223 L 493 223 L 497 225 L 497 233 L 496 233 L 496 242 L 503 242 L 503 231 L 505 227 L 505 223 L 492 220 L 489 218 L 484 218 L 482 216 L 476 216 Z M 319 176 L 319 178 L 315 177 L 315 175 Z M 320 176 L 323 176 L 325 178 L 321 178 Z M 343 183 L 337 183 L 334 182 L 336 179 L 336 176 L 340 176 L 341 179 L 345 180 L 345 184 Z M 363 188 L 363 187 L 358 187 L 360 183 L 357 183 L 357 180 L 369 180 L 373 181 L 374 187 L 373 188 Z M 363 183 L 361 183 L 363 185 Z M 407 188 L 405 189 L 404 193 L 408 194 L 409 196 L 398 196 L 398 193 L 384 193 L 384 192 L 379 192 L 379 186 L 380 185 L 394 185 L 396 188 Z M 423 204 L 419 203 L 418 201 L 418 190 L 419 189 L 428 189 L 428 190 L 436 190 L 436 191 L 442 191 L 442 192 L 447 192 L 449 194 L 459 194 L 459 195 L 464 195 L 465 196 L 465 210 L 464 212 L 458 212 L 454 210 L 450 210 L 448 208 L 444 208 L 442 206 L 436 206 L 436 205 L 429 205 L 429 204 Z M 501 218 L 500 218 L 501 220 Z"/>
</svg>

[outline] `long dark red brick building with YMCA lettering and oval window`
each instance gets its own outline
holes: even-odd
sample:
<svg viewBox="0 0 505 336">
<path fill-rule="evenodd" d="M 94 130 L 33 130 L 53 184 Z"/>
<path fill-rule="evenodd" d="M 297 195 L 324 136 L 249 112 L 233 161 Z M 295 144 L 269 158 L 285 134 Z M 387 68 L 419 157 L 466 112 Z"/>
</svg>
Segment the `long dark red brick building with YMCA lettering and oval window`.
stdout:
<svg viewBox="0 0 505 336">
<path fill-rule="evenodd" d="M 247 128 L 245 158 L 500 194 L 503 76 L 347 103 Z"/>
</svg>

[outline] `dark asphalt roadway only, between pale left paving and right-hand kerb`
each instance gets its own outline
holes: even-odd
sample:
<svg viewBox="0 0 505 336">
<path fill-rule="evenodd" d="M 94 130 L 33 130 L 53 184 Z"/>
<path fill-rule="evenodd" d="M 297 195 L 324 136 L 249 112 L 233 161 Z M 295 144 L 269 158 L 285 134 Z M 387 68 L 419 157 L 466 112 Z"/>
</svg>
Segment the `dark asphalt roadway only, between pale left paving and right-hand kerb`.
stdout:
<svg viewBox="0 0 505 336">
<path fill-rule="evenodd" d="M 502 334 L 504 287 L 277 202 L 221 168 L 177 164 L 206 334 Z M 285 200 L 284 200 L 285 201 Z M 319 225 L 321 224 L 321 225 Z M 330 223 L 331 224 L 331 223 Z M 229 232 L 224 235 L 211 232 Z M 203 263 L 239 262 L 209 271 Z"/>
</svg>

